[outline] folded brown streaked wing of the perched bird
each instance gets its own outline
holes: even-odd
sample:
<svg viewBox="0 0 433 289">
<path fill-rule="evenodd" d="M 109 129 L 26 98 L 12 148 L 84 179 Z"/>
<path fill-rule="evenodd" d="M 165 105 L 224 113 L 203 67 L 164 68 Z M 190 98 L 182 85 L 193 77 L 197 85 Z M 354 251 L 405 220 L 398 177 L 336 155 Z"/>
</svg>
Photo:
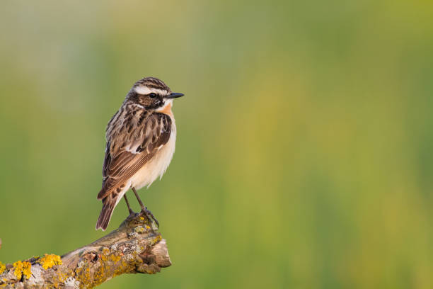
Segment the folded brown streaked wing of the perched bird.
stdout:
<svg viewBox="0 0 433 289">
<path fill-rule="evenodd" d="M 103 186 L 98 200 L 120 191 L 125 181 L 166 145 L 171 135 L 171 118 L 154 113 L 135 123 L 122 123 L 122 130 L 107 134 L 103 164 Z"/>
</svg>

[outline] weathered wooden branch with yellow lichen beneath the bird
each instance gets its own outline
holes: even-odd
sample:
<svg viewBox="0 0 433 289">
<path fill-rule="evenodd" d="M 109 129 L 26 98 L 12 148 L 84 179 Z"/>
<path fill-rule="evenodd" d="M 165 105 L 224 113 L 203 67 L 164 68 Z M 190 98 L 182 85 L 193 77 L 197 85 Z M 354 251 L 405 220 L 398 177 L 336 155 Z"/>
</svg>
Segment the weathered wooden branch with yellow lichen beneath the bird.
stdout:
<svg viewBox="0 0 433 289">
<path fill-rule="evenodd" d="M 0 288 L 93 288 L 124 273 L 157 273 L 171 266 L 166 240 L 145 215 L 63 256 L 0 263 Z"/>
</svg>

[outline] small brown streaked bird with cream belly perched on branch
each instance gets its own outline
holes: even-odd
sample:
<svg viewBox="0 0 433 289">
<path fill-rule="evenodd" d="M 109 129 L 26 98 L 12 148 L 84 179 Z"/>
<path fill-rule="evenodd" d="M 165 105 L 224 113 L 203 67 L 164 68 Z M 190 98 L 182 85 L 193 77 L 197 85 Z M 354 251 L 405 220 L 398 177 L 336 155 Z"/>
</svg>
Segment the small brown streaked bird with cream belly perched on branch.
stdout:
<svg viewBox="0 0 433 289">
<path fill-rule="evenodd" d="M 129 215 L 134 211 L 126 196 L 134 192 L 142 213 L 158 220 L 144 206 L 137 190 L 161 179 L 175 152 L 176 125 L 173 99 L 184 96 L 175 93 L 160 79 L 144 77 L 135 82 L 119 110 L 112 116 L 105 130 L 103 182 L 98 193 L 103 207 L 96 229 L 105 231 L 116 205 L 125 198 Z"/>
</svg>

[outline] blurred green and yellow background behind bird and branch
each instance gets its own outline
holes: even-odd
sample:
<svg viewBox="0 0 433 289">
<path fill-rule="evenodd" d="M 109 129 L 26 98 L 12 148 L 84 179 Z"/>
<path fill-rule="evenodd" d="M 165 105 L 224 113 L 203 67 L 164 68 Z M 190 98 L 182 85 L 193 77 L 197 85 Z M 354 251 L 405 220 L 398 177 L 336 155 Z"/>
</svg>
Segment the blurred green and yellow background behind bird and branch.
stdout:
<svg viewBox="0 0 433 289">
<path fill-rule="evenodd" d="M 139 192 L 173 266 L 100 288 L 433 288 L 432 16 L 421 0 L 1 1 L 0 260 L 103 236 L 105 125 L 154 76 L 186 95 L 173 162 Z"/>
</svg>

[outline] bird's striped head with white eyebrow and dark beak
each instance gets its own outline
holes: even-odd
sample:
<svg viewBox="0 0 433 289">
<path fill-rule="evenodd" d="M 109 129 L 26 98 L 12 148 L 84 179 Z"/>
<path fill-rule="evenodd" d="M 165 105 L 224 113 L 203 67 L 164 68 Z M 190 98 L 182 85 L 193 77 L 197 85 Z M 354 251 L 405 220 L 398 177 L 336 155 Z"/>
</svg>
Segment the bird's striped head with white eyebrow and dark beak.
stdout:
<svg viewBox="0 0 433 289">
<path fill-rule="evenodd" d="M 160 79 L 145 77 L 132 86 L 127 95 L 129 100 L 151 111 L 163 111 L 167 106 L 171 107 L 173 98 L 183 94 L 175 93 Z"/>
</svg>

